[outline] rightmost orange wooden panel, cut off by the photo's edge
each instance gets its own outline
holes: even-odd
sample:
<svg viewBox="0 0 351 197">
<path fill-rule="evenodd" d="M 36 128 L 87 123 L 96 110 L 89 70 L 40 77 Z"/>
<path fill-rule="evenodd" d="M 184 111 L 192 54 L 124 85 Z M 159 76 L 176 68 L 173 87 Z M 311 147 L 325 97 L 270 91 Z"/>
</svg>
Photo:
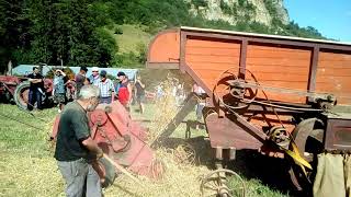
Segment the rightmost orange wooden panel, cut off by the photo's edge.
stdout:
<svg viewBox="0 0 351 197">
<path fill-rule="evenodd" d="M 332 93 L 338 104 L 351 104 L 351 54 L 319 53 L 316 92 Z"/>
</svg>

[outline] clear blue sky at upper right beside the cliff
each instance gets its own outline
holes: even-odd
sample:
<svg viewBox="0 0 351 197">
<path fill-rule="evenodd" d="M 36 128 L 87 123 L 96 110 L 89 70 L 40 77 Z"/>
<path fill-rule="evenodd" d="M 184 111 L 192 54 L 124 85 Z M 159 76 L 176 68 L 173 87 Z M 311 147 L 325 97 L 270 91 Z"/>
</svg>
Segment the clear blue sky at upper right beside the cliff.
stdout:
<svg viewBox="0 0 351 197">
<path fill-rule="evenodd" d="M 351 0 L 284 0 L 291 21 L 325 37 L 351 43 Z"/>
</svg>

